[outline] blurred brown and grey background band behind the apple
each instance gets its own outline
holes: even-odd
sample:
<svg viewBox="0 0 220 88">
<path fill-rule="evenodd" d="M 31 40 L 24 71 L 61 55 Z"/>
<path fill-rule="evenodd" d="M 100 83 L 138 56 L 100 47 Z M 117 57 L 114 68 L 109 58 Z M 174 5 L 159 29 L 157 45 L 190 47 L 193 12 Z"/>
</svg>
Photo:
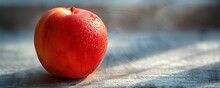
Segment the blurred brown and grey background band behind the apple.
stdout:
<svg viewBox="0 0 220 88">
<path fill-rule="evenodd" d="M 220 28 L 219 0 L 1 0 L 0 30 L 34 30 L 48 10 L 72 5 L 96 13 L 113 32 Z"/>
</svg>

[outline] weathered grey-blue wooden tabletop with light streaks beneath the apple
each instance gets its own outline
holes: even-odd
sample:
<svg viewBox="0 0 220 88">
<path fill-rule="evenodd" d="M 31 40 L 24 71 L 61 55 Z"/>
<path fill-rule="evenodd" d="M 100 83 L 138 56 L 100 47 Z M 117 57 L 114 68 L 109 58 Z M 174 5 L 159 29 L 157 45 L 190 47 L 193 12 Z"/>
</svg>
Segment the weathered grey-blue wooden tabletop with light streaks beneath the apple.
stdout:
<svg viewBox="0 0 220 88">
<path fill-rule="evenodd" d="M 83 79 L 48 75 L 32 34 L 0 34 L 0 87 L 220 86 L 220 32 L 110 33 L 105 60 Z"/>
</svg>

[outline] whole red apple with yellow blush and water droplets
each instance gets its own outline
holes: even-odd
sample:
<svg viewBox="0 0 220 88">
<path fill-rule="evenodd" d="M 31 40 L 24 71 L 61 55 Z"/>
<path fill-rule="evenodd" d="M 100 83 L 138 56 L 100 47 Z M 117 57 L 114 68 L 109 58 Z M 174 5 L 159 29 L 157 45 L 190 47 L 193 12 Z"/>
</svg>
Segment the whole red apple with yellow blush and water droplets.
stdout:
<svg viewBox="0 0 220 88">
<path fill-rule="evenodd" d="M 107 29 L 94 13 L 57 7 L 38 22 L 34 45 L 42 66 L 51 75 L 84 78 L 103 61 Z"/>
</svg>

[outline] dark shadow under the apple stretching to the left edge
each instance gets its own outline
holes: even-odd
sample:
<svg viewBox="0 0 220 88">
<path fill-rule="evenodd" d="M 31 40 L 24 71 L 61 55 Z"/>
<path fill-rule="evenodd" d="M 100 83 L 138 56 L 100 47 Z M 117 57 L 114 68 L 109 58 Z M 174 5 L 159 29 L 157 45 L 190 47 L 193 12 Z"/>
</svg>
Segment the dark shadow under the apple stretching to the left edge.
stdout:
<svg viewBox="0 0 220 88">
<path fill-rule="evenodd" d="M 62 87 L 82 82 L 81 79 L 66 79 L 49 75 L 42 67 L 0 76 L 0 87 Z"/>
</svg>

